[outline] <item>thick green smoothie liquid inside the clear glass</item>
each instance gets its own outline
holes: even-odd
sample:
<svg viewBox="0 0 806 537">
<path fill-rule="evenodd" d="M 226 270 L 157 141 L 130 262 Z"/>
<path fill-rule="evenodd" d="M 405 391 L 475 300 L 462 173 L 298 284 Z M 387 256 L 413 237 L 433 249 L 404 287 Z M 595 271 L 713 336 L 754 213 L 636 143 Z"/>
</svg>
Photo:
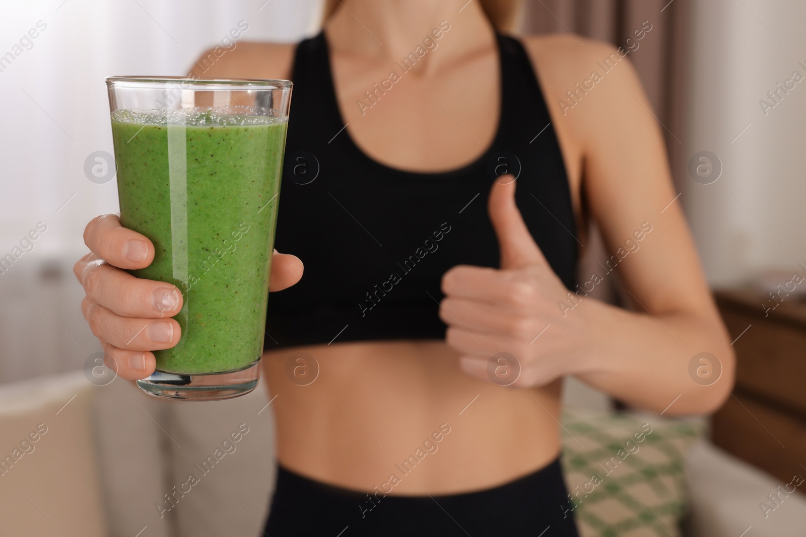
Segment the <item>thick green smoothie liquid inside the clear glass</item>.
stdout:
<svg viewBox="0 0 806 537">
<path fill-rule="evenodd" d="M 157 369 L 238 370 L 263 352 L 286 122 L 173 110 L 112 114 L 123 226 L 156 249 L 130 271 L 181 289 L 182 337 Z"/>
</svg>

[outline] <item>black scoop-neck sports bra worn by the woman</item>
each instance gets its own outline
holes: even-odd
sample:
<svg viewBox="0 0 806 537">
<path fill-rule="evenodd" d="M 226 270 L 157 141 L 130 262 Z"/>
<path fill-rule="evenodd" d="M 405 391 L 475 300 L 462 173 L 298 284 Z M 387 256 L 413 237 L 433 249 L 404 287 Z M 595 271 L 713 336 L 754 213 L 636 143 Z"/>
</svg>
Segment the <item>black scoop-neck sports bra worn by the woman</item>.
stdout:
<svg viewBox="0 0 806 537">
<path fill-rule="evenodd" d="M 438 173 L 364 154 L 344 130 L 325 35 L 299 43 L 275 246 L 301 258 L 305 274 L 269 296 L 266 349 L 442 339 L 442 275 L 458 264 L 498 266 L 487 198 L 506 171 L 535 241 L 575 286 L 575 218 L 555 130 L 523 46 L 503 35 L 497 43 L 495 138 L 475 162 Z"/>
</svg>

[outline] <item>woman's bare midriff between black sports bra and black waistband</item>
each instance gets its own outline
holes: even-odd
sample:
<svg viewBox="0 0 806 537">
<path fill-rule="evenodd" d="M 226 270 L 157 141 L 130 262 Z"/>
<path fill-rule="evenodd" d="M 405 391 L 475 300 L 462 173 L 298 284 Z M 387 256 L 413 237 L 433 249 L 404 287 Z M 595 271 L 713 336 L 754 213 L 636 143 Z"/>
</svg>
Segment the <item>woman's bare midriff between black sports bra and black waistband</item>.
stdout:
<svg viewBox="0 0 806 537">
<path fill-rule="evenodd" d="M 307 386 L 288 373 L 295 353 L 318 362 Z M 443 341 L 295 347 L 264 353 L 263 364 L 278 461 L 317 481 L 455 494 L 532 473 L 559 452 L 559 381 L 532 389 L 481 382 L 459 370 Z"/>
</svg>

